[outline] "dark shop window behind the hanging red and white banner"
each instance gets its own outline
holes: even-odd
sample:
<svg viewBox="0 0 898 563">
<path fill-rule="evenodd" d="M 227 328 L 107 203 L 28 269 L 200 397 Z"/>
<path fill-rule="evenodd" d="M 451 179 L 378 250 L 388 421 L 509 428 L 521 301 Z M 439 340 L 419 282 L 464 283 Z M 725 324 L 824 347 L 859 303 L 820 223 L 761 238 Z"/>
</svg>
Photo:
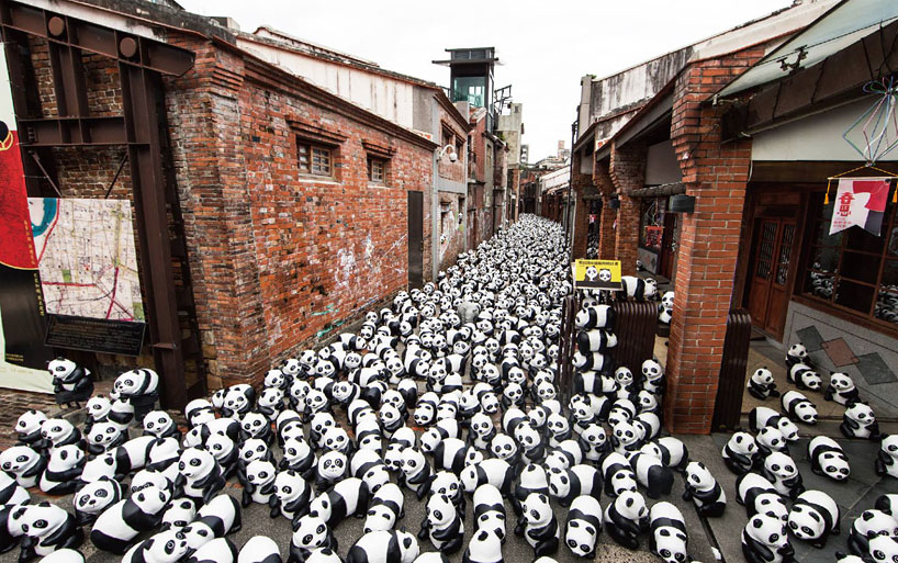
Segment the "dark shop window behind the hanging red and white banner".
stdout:
<svg viewBox="0 0 898 563">
<path fill-rule="evenodd" d="M 800 293 L 874 324 L 898 325 L 898 222 L 889 202 L 882 236 L 851 227 L 829 234 L 833 203 L 811 195 Z"/>
</svg>

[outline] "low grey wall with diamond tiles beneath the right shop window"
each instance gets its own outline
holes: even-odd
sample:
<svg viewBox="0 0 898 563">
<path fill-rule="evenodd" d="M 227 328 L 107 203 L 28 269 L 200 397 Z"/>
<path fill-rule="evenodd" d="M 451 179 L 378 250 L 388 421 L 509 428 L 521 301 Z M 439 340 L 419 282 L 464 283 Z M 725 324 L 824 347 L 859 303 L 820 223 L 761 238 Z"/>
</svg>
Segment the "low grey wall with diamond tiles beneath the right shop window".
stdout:
<svg viewBox="0 0 898 563">
<path fill-rule="evenodd" d="M 789 303 L 784 335 L 784 347 L 800 341 L 808 348 L 824 382 L 833 371 L 845 372 L 876 416 L 898 417 L 898 340 L 796 302 Z M 850 353 L 840 353 L 845 347 Z"/>
</svg>

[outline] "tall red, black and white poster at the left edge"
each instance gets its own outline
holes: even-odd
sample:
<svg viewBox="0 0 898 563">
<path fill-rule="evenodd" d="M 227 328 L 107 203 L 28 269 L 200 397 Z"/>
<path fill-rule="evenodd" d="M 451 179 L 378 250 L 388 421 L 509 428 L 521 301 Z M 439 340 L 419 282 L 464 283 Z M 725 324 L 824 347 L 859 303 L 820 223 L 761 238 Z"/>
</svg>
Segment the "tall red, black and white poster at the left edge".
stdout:
<svg viewBox="0 0 898 563">
<path fill-rule="evenodd" d="M 0 387 L 53 392 L 5 45 L 0 44 Z"/>
</svg>

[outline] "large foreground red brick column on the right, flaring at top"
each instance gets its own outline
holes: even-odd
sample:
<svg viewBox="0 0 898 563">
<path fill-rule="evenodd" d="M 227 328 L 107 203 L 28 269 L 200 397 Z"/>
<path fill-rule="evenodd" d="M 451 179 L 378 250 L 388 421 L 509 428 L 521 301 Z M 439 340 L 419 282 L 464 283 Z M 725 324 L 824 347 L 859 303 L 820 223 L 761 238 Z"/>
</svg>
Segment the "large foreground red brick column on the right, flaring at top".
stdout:
<svg viewBox="0 0 898 563">
<path fill-rule="evenodd" d="M 722 110 L 701 102 L 762 55 L 754 48 L 693 65 L 676 85 L 671 137 L 696 203 L 681 216 L 664 397 L 671 432 L 710 431 L 751 162 L 751 142 L 721 144 Z"/>
</svg>

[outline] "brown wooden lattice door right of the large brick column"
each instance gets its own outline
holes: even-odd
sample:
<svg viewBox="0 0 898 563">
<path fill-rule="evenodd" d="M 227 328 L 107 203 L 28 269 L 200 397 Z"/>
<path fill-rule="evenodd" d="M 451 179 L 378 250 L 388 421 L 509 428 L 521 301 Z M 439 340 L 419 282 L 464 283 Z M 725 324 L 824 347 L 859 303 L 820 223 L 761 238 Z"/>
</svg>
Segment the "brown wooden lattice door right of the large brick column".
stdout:
<svg viewBox="0 0 898 563">
<path fill-rule="evenodd" d="M 754 326 L 782 338 L 789 301 L 787 282 L 795 243 L 795 221 L 757 219 L 754 232 L 754 256 L 749 272 L 749 313 Z"/>
</svg>

